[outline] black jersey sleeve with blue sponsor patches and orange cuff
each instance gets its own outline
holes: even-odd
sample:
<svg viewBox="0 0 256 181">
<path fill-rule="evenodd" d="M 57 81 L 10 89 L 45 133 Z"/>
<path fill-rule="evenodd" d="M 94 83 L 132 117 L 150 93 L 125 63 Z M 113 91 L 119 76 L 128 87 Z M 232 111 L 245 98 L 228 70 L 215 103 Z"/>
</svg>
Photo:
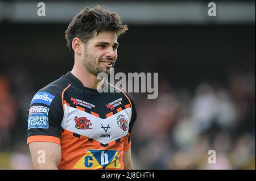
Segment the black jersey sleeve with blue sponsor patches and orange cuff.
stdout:
<svg viewBox="0 0 256 181">
<path fill-rule="evenodd" d="M 60 145 L 63 106 L 61 92 L 51 89 L 38 91 L 28 108 L 27 144 L 54 142 Z"/>
</svg>

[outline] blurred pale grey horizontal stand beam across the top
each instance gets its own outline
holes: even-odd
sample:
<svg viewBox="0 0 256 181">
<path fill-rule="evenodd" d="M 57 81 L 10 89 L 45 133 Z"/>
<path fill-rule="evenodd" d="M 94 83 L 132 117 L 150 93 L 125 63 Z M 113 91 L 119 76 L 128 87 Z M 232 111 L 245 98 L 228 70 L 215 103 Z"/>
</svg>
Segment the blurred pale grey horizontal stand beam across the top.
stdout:
<svg viewBox="0 0 256 181">
<path fill-rule="evenodd" d="M 100 4 L 132 24 L 246 24 L 255 22 L 254 1 L 214 1 L 217 16 L 207 15 L 209 1 L 43 1 L 47 15 L 36 14 L 40 1 L 0 2 L 0 20 L 23 23 L 68 23 L 81 7 Z"/>
</svg>

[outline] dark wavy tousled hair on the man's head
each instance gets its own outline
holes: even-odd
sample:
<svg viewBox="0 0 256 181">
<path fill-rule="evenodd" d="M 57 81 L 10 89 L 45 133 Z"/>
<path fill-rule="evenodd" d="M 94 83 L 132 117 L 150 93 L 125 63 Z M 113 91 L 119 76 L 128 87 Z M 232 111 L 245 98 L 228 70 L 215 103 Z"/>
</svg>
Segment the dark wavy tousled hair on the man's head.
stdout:
<svg viewBox="0 0 256 181">
<path fill-rule="evenodd" d="M 82 43 L 87 43 L 95 33 L 101 31 L 114 31 L 117 37 L 128 30 L 127 24 L 124 24 L 120 16 L 115 12 L 97 5 L 96 7 L 86 7 L 80 11 L 69 24 L 65 31 L 65 40 L 67 47 L 73 52 L 72 40 L 78 37 Z"/>
</svg>

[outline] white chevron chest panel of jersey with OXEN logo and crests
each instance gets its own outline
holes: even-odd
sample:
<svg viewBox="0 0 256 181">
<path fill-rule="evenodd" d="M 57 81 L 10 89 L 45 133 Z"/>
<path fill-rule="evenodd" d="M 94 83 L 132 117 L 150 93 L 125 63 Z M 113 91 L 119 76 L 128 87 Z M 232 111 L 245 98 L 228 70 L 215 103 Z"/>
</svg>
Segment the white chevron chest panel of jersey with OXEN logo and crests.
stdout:
<svg viewBox="0 0 256 181">
<path fill-rule="evenodd" d="M 105 119 L 66 105 L 64 110 L 61 123 L 64 129 L 92 138 L 102 144 L 126 136 L 129 131 L 130 108 Z"/>
</svg>

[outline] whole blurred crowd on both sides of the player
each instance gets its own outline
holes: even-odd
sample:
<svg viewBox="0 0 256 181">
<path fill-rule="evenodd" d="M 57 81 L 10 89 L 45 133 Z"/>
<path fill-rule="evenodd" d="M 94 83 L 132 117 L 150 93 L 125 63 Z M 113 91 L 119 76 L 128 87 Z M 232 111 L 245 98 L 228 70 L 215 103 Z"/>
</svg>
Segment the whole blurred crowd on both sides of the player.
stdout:
<svg viewBox="0 0 256 181">
<path fill-rule="evenodd" d="M 22 67 L 0 74 L 0 169 L 32 169 L 27 108 L 35 84 Z M 157 99 L 132 94 L 135 169 L 255 169 L 255 73 L 232 74 L 227 86 L 195 87 L 159 80 Z M 209 150 L 216 163 L 208 162 Z"/>
</svg>

